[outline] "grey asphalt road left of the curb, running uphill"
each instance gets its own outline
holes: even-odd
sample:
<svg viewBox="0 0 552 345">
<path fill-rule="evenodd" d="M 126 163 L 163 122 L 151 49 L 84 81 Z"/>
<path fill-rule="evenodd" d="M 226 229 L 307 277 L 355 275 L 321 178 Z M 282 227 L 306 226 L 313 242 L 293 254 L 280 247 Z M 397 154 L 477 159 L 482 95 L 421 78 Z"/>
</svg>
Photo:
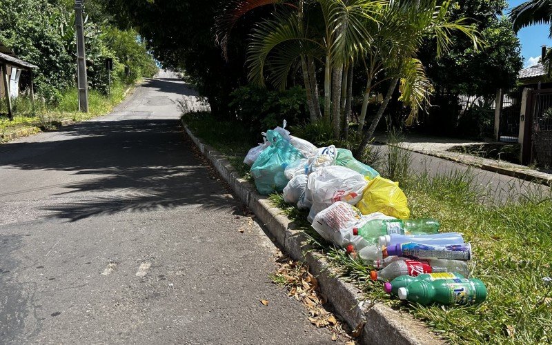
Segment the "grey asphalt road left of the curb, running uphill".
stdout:
<svg viewBox="0 0 552 345">
<path fill-rule="evenodd" d="M 0 343 L 335 344 L 271 284 L 276 248 L 194 155 L 183 95 L 161 74 L 0 146 Z"/>
</svg>

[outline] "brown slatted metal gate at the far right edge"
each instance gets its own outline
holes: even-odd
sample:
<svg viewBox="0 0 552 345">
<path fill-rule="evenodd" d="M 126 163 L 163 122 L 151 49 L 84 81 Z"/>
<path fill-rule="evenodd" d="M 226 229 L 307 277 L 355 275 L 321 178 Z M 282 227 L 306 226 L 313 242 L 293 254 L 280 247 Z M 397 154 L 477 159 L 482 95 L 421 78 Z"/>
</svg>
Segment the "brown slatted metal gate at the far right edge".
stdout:
<svg viewBox="0 0 552 345">
<path fill-rule="evenodd" d="M 528 108 L 531 115 L 531 162 L 552 167 L 552 89 L 532 90 Z"/>
</svg>

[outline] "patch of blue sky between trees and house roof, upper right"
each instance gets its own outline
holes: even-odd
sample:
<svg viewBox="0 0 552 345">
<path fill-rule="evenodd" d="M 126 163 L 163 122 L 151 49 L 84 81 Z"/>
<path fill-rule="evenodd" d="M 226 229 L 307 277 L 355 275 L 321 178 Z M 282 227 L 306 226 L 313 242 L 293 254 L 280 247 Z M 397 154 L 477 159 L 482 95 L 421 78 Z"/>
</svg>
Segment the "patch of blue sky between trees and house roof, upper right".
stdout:
<svg viewBox="0 0 552 345">
<path fill-rule="evenodd" d="M 523 3 L 524 0 L 510 0 L 510 7 Z M 517 37 L 522 43 L 522 57 L 524 57 L 524 67 L 534 65 L 540 57 L 540 46 L 552 46 L 552 40 L 549 39 L 549 29 L 547 25 L 530 26 L 517 32 Z"/>
</svg>

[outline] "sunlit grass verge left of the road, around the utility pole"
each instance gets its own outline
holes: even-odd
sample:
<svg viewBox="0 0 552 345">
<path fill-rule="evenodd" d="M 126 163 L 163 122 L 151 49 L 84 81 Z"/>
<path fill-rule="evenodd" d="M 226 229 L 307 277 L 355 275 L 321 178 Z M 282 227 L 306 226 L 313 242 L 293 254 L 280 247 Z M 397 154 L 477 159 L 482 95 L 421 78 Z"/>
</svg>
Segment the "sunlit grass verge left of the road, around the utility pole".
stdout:
<svg viewBox="0 0 552 345">
<path fill-rule="evenodd" d="M 56 106 L 49 106 L 41 101 L 36 101 L 34 109 L 30 98 L 17 97 L 12 102 L 14 119 L 10 121 L 6 115 L 0 116 L 0 134 L 14 132 L 23 128 L 29 128 L 34 132 L 40 130 L 55 129 L 55 122 L 61 119 L 83 121 L 105 115 L 114 106 L 124 99 L 124 92 L 128 86 L 114 83 L 111 88 L 111 97 L 103 95 L 96 90 L 88 91 L 88 112 L 79 111 L 78 90 L 72 88 L 61 93 L 61 99 Z M 0 114 L 6 114 L 6 102 L 0 102 Z M 54 124 L 52 124 L 52 122 Z"/>
</svg>

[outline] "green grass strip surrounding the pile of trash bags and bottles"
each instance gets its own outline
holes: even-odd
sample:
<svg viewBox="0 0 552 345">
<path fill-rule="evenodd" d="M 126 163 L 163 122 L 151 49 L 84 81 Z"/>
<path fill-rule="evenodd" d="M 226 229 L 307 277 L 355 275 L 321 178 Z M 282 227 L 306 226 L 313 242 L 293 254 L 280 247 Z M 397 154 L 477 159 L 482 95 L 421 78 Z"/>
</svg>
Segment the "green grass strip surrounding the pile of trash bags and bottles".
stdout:
<svg viewBox="0 0 552 345">
<path fill-rule="evenodd" d="M 210 126 L 213 124 L 203 128 L 204 133 Z M 196 134 L 204 138 L 201 132 Z M 250 147 L 239 141 L 217 144 L 217 138 L 210 134 L 204 139 L 226 154 L 236 155 Z M 552 343 L 552 286 L 542 281 L 552 275 L 550 192 L 533 188 L 520 195 L 511 185 L 500 191 L 506 193 L 505 201 L 497 201 L 496 191 L 477 184 L 471 170 L 431 177 L 427 171 L 408 171 L 404 161 L 408 157 L 396 157 L 397 152 L 390 155 L 395 155 L 391 159 L 396 159 L 393 165 L 400 172 L 397 176 L 402 178 L 411 217 L 438 219 L 443 232 L 464 233 L 473 245 L 472 276 L 482 279 L 489 289 L 489 297 L 482 304 L 420 306 L 391 299 L 380 283 L 371 282 L 369 266 L 351 259 L 343 249 L 315 233 L 306 221 L 306 212 L 286 204 L 282 195 L 269 198 L 295 221 L 317 251 L 327 255 L 337 275 L 364 291 L 366 300 L 411 313 L 451 344 Z M 381 172 L 384 170 L 380 167 Z"/>
</svg>

